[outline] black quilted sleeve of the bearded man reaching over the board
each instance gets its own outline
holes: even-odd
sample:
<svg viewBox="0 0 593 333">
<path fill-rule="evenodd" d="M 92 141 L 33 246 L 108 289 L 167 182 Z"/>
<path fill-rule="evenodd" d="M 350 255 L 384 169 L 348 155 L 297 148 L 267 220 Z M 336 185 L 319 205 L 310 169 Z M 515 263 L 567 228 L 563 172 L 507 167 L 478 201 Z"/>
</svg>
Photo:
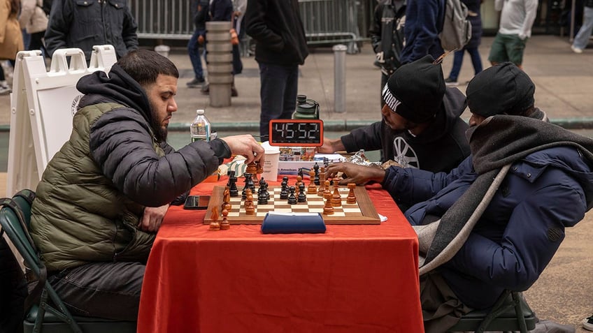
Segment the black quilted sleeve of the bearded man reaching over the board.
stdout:
<svg viewBox="0 0 593 333">
<path fill-rule="evenodd" d="M 90 151 L 103 175 L 127 198 L 148 207 L 190 190 L 217 170 L 219 158 L 227 157 L 217 156 L 208 142 L 192 142 L 163 157 L 153 145 L 148 123 L 134 110 L 114 109 L 91 127 Z"/>
</svg>

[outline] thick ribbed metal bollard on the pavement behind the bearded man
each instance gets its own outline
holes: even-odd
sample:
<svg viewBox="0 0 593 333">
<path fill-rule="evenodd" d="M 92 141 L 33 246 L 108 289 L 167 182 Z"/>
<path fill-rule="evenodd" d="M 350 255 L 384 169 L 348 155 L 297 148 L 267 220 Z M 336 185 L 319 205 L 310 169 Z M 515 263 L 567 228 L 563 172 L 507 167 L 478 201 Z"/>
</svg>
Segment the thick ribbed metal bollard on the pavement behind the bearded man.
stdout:
<svg viewBox="0 0 593 333">
<path fill-rule="evenodd" d="M 208 95 L 213 107 L 231 106 L 233 45 L 230 30 L 231 22 L 206 22 Z"/>
</svg>

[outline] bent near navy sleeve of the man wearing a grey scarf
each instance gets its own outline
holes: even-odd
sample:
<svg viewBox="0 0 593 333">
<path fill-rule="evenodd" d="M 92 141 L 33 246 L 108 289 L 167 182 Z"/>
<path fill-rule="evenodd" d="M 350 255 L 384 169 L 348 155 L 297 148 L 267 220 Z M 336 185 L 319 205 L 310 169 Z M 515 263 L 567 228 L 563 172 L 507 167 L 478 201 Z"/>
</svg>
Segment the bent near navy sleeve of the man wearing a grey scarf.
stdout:
<svg viewBox="0 0 593 333">
<path fill-rule="evenodd" d="M 583 219 L 583 188 L 569 175 L 549 168 L 510 214 L 500 242 L 472 232 L 445 265 L 510 290 L 527 290 L 548 265 L 564 239 L 564 228 Z M 513 177 L 508 176 L 509 191 Z M 550 180 L 551 179 L 551 180 Z M 525 182 L 524 182 L 525 183 Z"/>
</svg>

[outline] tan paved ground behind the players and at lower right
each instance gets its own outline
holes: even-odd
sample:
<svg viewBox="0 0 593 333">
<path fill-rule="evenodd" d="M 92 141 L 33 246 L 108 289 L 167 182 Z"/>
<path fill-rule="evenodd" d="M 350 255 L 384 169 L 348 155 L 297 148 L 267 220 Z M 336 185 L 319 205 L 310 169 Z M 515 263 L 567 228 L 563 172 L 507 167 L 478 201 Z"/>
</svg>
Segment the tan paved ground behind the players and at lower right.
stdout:
<svg viewBox="0 0 593 333">
<path fill-rule="evenodd" d="M 480 46 L 484 66 L 489 66 L 487 54 L 491 43 L 492 37 L 485 37 Z M 232 99 L 229 108 L 210 107 L 208 96 L 185 86 L 192 79 L 185 50 L 173 50 L 170 58 L 181 72 L 179 110 L 173 115 L 176 124 L 171 124 L 172 128 L 187 131 L 195 110 L 204 108 L 219 131 L 240 128 L 257 133 L 259 74 L 252 57 L 243 58 L 243 73 L 235 79 L 239 96 Z M 301 66 L 299 94 L 319 102 L 322 119 L 337 131 L 379 119 L 380 72 L 373 67 L 371 47 L 364 45 L 361 53 L 346 56 L 347 108 L 343 113 L 334 112 L 333 59 L 331 48 L 312 50 L 306 64 Z M 445 77 L 451 64 L 452 56 L 443 62 Z M 593 50 L 574 54 L 567 38 L 534 36 L 527 44 L 524 70 L 536 84 L 536 105 L 548 112 L 553 121 L 565 126 L 593 127 Z M 459 82 L 466 82 L 472 76 L 471 61 L 466 57 Z M 465 85 L 459 89 L 465 91 Z M 467 112 L 464 117 L 469 117 Z M 6 128 L 8 124 L 10 101 L 8 96 L 0 96 L 0 126 Z M 5 182 L 6 174 L 0 174 L 0 188 L 6 188 Z M 593 235 L 593 213 L 566 231 L 566 239 L 555 258 L 525 295 L 540 318 L 575 325 L 576 332 L 586 332 L 580 328 L 580 320 L 593 313 L 593 242 L 589 239 Z"/>
</svg>

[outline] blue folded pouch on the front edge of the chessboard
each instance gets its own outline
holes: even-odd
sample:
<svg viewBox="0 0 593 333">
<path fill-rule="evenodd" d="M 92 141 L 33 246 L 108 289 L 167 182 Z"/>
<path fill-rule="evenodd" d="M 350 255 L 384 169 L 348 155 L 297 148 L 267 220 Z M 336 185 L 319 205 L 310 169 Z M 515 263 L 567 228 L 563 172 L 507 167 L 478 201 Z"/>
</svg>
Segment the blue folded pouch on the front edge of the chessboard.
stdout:
<svg viewBox="0 0 593 333">
<path fill-rule="evenodd" d="M 264 234 L 317 234 L 325 232 L 325 223 L 319 213 L 274 213 L 264 217 Z"/>
</svg>

